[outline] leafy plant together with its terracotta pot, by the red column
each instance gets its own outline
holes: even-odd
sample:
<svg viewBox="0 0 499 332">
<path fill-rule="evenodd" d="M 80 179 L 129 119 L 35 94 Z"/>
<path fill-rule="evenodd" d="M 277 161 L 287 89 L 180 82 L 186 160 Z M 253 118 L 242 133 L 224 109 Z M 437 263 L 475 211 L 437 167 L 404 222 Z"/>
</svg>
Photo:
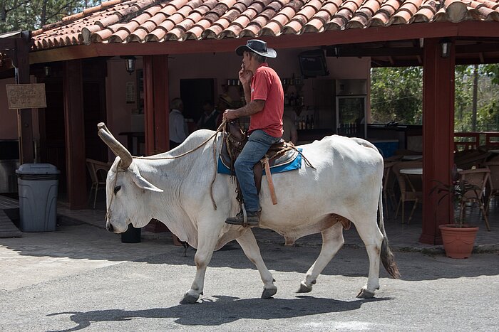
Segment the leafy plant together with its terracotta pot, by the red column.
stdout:
<svg viewBox="0 0 499 332">
<path fill-rule="evenodd" d="M 468 183 L 468 181 L 456 180 L 456 175 L 457 172 L 454 170 L 453 182 L 450 185 L 441 181 L 433 181 L 437 184 L 431 188 L 430 194 L 435 193 L 437 196 L 443 194 L 438 199 L 437 204 L 450 196 L 454 210 L 458 210 L 454 215 L 453 223 L 438 226 L 441 230 L 443 249 L 446 251 L 446 255 L 451 258 L 468 258 L 473 251 L 478 227 L 468 225 L 465 222 L 465 211 L 462 208 L 456 209 L 456 206 L 461 206 L 461 201 L 465 197 L 475 196 L 478 200 L 481 195 L 481 188 Z"/>
</svg>

